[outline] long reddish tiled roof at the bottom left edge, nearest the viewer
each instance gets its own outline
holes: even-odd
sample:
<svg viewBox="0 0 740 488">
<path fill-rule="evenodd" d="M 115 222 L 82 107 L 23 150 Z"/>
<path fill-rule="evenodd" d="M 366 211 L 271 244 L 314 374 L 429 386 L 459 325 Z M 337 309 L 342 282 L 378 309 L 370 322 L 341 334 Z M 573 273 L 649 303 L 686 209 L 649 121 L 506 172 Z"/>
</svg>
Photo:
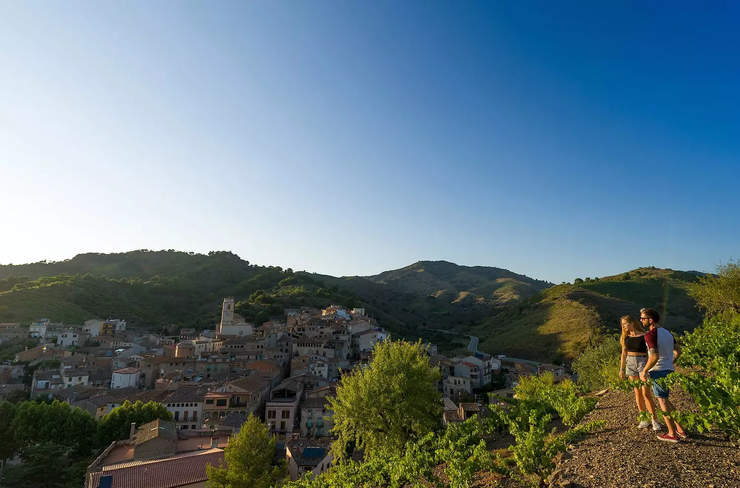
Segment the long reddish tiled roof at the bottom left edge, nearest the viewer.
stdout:
<svg viewBox="0 0 740 488">
<path fill-rule="evenodd" d="M 225 464 L 223 449 L 207 449 L 174 455 L 150 461 L 104 466 L 101 471 L 90 473 L 90 487 L 97 487 L 100 478 L 113 476 L 112 488 L 175 488 L 201 483 L 206 477 L 206 465 Z"/>
</svg>

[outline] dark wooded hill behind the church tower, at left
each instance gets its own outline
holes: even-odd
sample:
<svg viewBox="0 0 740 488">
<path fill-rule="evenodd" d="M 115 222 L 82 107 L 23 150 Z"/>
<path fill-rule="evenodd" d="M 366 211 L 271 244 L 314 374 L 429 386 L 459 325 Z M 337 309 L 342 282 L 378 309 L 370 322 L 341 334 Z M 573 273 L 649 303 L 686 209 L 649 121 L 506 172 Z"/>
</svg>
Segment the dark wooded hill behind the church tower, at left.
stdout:
<svg viewBox="0 0 740 488">
<path fill-rule="evenodd" d="M 366 307 L 391 330 L 396 319 L 356 295 L 308 275 L 280 267 L 249 264 L 238 255 L 138 250 L 83 254 L 60 262 L 0 267 L 0 321 L 28 322 L 48 317 L 65 324 L 115 315 L 130 327 L 166 324 L 209 329 L 218 324 L 221 300 L 234 296 L 248 320 L 267 320 L 284 307 L 332 303 Z M 14 273 L 18 273 L 17 275 Z"/>
</svg>

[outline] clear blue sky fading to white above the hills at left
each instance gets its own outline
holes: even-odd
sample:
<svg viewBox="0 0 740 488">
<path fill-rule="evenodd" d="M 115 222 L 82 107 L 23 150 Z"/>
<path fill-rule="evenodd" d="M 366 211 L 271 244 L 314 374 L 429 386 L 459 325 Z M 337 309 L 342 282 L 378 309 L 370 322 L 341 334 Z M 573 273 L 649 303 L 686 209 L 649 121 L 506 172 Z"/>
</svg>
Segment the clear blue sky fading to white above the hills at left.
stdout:
<svg viewBox="0 0 740 488">
<path fill-rule="evenodd" d="M 739 18 L 736 2 L 4 1 L 0 262 L 710 271 L 740 254 Z"/>
</svg>

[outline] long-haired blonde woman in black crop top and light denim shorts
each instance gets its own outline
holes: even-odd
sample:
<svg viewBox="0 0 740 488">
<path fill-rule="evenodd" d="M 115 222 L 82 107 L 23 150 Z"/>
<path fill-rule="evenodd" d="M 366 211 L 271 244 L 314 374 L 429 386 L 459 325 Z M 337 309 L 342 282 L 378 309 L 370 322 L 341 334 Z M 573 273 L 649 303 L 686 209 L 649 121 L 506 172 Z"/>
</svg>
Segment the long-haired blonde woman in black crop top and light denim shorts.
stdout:
<svg viewBox="0 0 740 488">
<path fill-rule="evenodd" d="M 625 315 L 621 322 L 622 362 L 619 365 L 619 378 L 625 379 L 626 375 L 630 380 L 639 380 L 640 373 L 645 369 L 647 363 L 647 344 L 645 344 L 644 337 L 646 331 L 632 315 Z M 653 417 L 653 430 L 659 431 L 661 427 L 655 416 L 655 404 L 653 403 L 653 397 L 650 395 L 650 390 L 645 386 L 635 388 L 635 401 L 637 402 L 637 410 L 640 412 L 645 412 L 647 407 L 647 411 Z M 647 421 L 640 421 L 637 427 L 647 429 L 650 424 Z"/>
</svg>

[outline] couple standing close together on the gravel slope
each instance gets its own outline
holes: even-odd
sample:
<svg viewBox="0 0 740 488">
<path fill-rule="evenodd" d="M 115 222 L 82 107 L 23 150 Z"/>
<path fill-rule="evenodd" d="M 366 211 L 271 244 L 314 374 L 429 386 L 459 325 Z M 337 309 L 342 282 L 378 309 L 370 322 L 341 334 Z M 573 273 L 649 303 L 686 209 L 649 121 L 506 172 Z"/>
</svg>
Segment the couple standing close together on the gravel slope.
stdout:
<svg viewBox="0 0 740 488">
<path fill-rule="evenodd" d="M 661 410 L 668 414 L 673 405 L 668 399 L 668 389 L 656 383 L 656 379 L 665 378 L 673 372 L 673 361 L 681 355 L 681 350 L 669 330 L 660 327 L 660 314 L 652 308 L 640 310 L 639 320 L 632 315 L 622 317 L 622 362 L 619 367 L 619 378 L 652 381 L 653 395 L 658 398 Z M 659 432 L 661 425 L 655 415 L 653 396 L 646 385 L 635 388 L 635 399 L 640 412 L 650 412 L 653 417 L 653 430 Z M 687 438 L 687 434 L 678 422 L 664 417 L 668 432 L 659 434 L 658 438 L 666 442 L 678 442 Z M 641 429 L 650 427 L 647 421 L 641 421 Z"/>
</svg>

